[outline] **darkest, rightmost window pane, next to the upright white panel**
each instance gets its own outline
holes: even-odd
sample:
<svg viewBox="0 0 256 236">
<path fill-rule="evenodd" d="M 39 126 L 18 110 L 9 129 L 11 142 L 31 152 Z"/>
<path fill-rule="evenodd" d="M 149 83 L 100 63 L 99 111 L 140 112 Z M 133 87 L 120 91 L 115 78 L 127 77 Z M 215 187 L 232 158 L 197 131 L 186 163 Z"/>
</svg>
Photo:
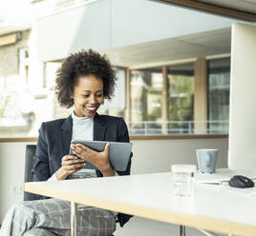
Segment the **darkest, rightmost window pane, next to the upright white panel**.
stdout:
<svg viewBox="0 0 256 236">
<path fill-rule="evenodd" d="M 230 58 L 208 62 L 209 133 L 228 133 Z"/>
</svg>

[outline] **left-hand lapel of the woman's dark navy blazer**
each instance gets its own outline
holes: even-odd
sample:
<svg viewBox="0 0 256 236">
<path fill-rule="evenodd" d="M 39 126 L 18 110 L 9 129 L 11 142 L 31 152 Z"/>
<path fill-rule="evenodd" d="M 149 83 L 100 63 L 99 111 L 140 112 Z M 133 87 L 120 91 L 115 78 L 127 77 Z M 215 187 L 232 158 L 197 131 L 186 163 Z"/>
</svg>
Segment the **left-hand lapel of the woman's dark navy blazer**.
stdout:
<svg viewBox="0 0 256 236">
<path fill-rule="evenodd" d="M 73 120 L 70 115 L 62 124 L 60 131 L 61 156 L 69 154 L 72 138 Z"/>
</svg>

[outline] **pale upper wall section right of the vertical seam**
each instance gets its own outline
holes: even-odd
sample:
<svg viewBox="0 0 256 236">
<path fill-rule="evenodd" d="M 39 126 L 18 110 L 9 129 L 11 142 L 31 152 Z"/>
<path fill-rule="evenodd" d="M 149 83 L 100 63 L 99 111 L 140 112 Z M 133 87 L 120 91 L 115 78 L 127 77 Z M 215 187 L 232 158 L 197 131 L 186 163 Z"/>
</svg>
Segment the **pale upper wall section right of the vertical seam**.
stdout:
<svg viewBox="0 0 256 236">
<path fill-rule="evenodd" d="M 148 0 L 111 1 L 111 48 L 230 28 L 228 17 Z"/>
</svg>

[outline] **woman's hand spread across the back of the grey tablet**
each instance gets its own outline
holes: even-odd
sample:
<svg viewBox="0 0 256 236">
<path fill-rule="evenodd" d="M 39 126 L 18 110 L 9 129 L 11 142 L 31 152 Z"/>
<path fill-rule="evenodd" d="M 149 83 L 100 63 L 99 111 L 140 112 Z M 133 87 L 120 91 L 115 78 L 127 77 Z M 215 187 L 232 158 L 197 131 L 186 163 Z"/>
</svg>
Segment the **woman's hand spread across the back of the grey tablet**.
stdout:
<svg viewBox="0 0 256 236">
<path fill-rule="evenodd" d="M 107 144 L 101 152 L 97 152 L 81 144 L 72 144 L 71 147 L 78 158 L 90 162 L 97 167 L 103 176 L 115 175 L 114 169 L 109 163 L 109 144 Z"/>
</svg>

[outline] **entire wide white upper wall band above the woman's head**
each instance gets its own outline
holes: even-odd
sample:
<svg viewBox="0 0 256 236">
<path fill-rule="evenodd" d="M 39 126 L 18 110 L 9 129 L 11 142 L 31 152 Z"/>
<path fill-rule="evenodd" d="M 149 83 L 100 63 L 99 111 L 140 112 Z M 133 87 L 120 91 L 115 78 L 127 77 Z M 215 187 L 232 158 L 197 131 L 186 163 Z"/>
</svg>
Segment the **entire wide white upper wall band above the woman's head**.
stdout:
<svg viewBox="0 0 256 236">
<path fill-rule="evenodd" d="M 230 28 L 234 20 L 148 0 L 101 0 L 36 20 L 39 59 Z"/>
</svg>

